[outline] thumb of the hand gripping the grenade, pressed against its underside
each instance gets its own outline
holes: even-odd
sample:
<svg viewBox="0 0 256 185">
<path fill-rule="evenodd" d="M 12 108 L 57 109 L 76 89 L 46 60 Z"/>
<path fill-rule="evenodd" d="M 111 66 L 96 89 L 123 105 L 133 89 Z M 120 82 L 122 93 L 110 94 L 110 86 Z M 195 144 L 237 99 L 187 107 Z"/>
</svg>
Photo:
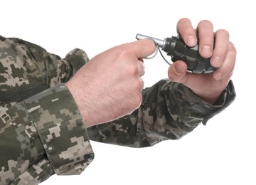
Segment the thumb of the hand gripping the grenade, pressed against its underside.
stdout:
<svg viewBox="0 0 256 185">
<path fill-rule="evenodd" d="M 168 76 L 170 80 L 186 85 L 186 82 L 188 81 L 187 68 L 188 66 L 186 63 L 181 60 L 177 60 L 171 64 L 168 70 Z"/>
</svg>

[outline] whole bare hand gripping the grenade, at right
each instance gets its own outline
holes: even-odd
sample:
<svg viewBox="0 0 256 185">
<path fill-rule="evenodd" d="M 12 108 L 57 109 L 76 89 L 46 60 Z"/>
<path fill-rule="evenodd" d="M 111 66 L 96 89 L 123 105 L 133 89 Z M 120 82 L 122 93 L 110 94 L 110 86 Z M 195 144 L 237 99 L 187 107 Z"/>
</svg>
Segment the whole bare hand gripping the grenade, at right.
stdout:
<svg viewBox="0 0 256 185">
<path fill-rule="evenodd" d="M 236 49 L 229 41 L 228 31 L 220 29 L 214 32 L 213 24 L 207 20 L 200 21 L 195 31 L 188 18 L 178 21 L 177 31 L 186 45 L 191 47 L 196 45 L 197 31 L 200 55 L 204 58 L 211 57 L 210 64 L 217 69 L 213 73 L 194 74 L 187 71 L 186 63 L 178 60 L 170 66 L 169 78 L 183 83 L 202 100 L 214 103 L 228 85 L 235 67 Z"/>
</svg>

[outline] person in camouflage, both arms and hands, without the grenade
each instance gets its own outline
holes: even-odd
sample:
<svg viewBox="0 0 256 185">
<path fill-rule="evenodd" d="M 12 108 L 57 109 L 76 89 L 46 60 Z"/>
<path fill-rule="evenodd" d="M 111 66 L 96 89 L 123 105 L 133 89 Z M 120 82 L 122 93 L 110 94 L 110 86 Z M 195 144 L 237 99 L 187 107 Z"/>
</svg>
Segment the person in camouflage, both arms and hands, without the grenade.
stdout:
<svg viewBox="0 0 256 185">
<path fill-rule="evenodd" d="M 150 88 L 141 78 L 142 58 L 154 53 L 153 41 L 125 43 L 89 60 L 80 49 L 60 58 L 0 36 L 0 184 L 80 174 L 94 158 L 90 139 L 149 147 L 179 139 L 223 111 L 235 100 L 235 46 L 227 31 L 213 33 L 210 21 L 196 29 L 199 53 L 211 56 L 218 69 L 188 73 L 179 60 L 169 79 Z M 177 30 L 188 46 L 196 45 L 188 18 L 178 21 Z"/>
</svg>

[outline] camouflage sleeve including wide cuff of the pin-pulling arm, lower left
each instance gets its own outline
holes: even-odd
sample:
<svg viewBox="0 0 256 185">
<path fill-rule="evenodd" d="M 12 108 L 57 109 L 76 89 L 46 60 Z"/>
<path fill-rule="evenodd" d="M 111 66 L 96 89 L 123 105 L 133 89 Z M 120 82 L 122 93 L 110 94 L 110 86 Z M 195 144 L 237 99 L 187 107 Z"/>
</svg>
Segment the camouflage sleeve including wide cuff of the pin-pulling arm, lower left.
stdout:
<svg viewBox="0 0 256 185">
<path fill-rule="evenodd" d="M 94 157 L 78 107 L 63 84 L 16 103 L 1 112 L 0 121 L 2 183 L 35 181 L 33 174 L 22 179 L 33 168 L 41 171 L 38 181 L 54 172 L 80 174 Z"/>
</svg>

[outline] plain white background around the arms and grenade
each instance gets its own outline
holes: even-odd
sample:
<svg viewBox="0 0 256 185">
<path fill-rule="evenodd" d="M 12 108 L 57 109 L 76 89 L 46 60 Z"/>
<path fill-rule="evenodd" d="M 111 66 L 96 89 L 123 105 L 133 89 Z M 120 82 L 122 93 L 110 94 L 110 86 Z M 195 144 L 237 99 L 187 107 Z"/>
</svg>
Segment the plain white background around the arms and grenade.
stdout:
<svg viewBox="0 0 256 185">
<path fill-rule="evenodd" d="M 92 142 L 95 159 L 80 176 L 51 176 L 43 184 L 256 184 L 255 6 L 253 1 L 1 1 L 1 32 L 65 57 L 81 48 L 92 58 L 137 33 L 176 36 L 188 17 L 224 28 L 238 51 L 233 82 L 237 98 L 204 127 L 177 141 L 132 149 Z M 145 60 L 146 86 L 167 77 L 160 55 Z"/>
</svg>

